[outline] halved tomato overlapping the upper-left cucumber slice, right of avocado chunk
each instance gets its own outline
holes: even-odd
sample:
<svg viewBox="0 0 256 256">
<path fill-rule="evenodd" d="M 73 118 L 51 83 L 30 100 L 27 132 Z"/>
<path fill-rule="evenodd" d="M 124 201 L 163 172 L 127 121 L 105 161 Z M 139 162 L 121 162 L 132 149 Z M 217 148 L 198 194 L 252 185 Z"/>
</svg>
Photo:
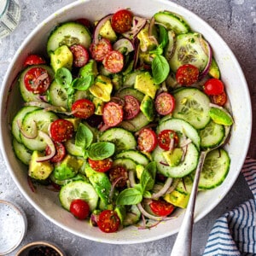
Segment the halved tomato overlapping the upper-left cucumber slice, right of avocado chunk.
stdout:
<svg viewBox="0 0 256 256">
<path fill-rule="evenodd" d="M 70 47 L 73 53 L 73 66 L 83 67 L 90 59 L 88 50 L 82 44 L 73 44 Z"/>
</svg>

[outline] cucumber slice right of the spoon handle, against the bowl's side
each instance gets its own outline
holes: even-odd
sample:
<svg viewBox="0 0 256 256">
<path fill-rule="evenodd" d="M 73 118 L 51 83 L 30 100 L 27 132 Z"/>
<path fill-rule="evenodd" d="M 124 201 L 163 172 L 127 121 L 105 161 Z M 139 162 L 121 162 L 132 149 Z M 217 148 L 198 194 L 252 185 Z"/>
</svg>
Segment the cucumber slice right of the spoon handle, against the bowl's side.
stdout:
<svg viewBox="0 0 256 256">
<path fill-rule="evenodd" d="M 230 156 L 224 148 L 217 148 L 206 156 L 198 183 L 199 189 L 213 189 L 224 182 L 230 170 Z"/>
</svg>

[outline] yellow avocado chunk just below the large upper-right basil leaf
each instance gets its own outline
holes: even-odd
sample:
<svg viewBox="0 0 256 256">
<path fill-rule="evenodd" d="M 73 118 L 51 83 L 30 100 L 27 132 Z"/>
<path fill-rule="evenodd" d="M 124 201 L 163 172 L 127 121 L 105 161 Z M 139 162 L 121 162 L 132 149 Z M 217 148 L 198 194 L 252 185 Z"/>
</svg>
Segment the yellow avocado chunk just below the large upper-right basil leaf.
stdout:
<svg viewBox="0 0 256 256">
<path fill-rule="evenodd" d="M 149 72 L 144 72 L 137 74 L 134 88 L 154 99 L 155 93 L 159 89 L 159 85 L 154 84 L 153 77 Z"/>
</svg>

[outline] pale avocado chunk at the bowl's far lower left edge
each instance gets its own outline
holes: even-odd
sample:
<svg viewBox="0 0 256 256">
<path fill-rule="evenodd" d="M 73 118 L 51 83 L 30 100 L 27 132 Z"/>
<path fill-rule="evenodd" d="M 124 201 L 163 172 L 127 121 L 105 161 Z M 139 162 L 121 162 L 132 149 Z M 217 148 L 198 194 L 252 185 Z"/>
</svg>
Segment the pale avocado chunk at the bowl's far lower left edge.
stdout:
<svg viewBox="0 0 256 256">
<path fill-rule="evenodd" d="M 52 166 L 49 161 L 37 161 L 38 157 L 42 156 L 44 156 L 43 153 L 37 150 L 33 151 L 28 168 L 28 176 L 41 181 L 47 179 L 50 173 L 54 170 L 54 166 Z"/>
</svg>

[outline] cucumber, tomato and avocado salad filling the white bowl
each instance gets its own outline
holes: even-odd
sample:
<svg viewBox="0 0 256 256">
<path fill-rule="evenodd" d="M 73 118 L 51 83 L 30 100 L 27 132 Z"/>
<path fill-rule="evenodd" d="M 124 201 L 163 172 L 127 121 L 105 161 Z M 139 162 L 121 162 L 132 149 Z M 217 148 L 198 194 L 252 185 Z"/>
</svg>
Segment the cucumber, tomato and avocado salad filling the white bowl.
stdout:
<svg viewBox="0 0 256 256">
<path fill-rule="evenodd" d="M 61 207 L 110 233 L 186 208 L 202 150 L 213 148 L 199 189 L 223 183 L 230 156 L 214 148 L 233 124 L 228 97 L 211 45 L 183 17 L 70 20 L 45 52 L 24 61 L 11 125 L 32 189 L 54 187 Z"/>
</svg>

